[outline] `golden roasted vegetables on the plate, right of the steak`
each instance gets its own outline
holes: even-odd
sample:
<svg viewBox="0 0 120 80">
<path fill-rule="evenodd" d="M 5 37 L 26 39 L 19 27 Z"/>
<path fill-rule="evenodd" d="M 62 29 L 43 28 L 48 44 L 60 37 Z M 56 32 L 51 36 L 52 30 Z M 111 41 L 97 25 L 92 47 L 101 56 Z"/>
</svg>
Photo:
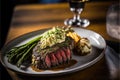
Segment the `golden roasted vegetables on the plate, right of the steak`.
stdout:
<svg viewBox="0 0 120 80">
<path fill-rule="evenodd" d="M 75 50 L 80 55 L 86 55 L 91 52 L 91 44 L 90 41 L 87 38 L 81 38 L 77 33 L 75 32 L 69 32 L 67 33 L 67 36 L 70 36 L 75 41 Z"/>
</svg>

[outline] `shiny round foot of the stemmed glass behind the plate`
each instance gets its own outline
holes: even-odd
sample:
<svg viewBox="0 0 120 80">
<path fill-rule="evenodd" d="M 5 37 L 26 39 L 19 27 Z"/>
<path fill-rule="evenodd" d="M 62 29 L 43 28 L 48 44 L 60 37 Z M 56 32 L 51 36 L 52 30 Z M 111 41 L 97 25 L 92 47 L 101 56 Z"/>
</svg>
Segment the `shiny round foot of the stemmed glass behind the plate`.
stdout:
<svg viewBox="0 0 120 80">
<path fill-rule="evenodd" d="M 87 27 L 90 24 L 88 19 L 73 20 L 72 18 L 64 21 L 66 26 Z"/>
</svg>

